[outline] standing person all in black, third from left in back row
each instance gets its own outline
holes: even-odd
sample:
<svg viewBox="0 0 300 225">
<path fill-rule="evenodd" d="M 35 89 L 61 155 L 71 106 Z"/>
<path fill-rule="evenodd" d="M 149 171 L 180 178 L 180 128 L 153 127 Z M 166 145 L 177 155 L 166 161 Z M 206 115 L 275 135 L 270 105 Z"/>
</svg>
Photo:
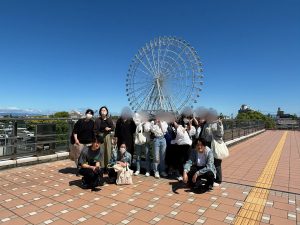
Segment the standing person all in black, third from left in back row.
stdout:
<svg viewBox="0 0 300 225">
<path fill-rule="evenodd" d="M 121 144 L 126 144 L 127 151 L 133 155 L 135 130 L 136 125 L 133 121 L 133 114 L 131 110 L 126 107 L 122 110 L 121 116 L 116 123 L 115 138 L 118 149 L 120 148 Z"/>
</svg>

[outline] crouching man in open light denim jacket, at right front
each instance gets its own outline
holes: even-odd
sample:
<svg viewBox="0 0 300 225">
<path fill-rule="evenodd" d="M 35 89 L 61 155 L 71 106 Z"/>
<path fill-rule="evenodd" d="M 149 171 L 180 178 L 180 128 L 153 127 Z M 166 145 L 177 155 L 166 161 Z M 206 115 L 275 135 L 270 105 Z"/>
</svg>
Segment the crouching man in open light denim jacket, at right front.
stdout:
<svg viewBox="0 0 300 225">
<path fill-rule="evenodd" d="M 204 188 L 204 192 L 213 189 L 214 178 L 216 177 L 214 156 L 212 150 L 206 146 L 206 141 L 203 138 L 197 139 L 196 147 L 192 150 L 189 160 L 184 165 L 182 177 L 183 182 L 189 183 L 193 188 Z M 201 178 L 206 179 L 204 187 L 201 185 Z"/>
</svg>

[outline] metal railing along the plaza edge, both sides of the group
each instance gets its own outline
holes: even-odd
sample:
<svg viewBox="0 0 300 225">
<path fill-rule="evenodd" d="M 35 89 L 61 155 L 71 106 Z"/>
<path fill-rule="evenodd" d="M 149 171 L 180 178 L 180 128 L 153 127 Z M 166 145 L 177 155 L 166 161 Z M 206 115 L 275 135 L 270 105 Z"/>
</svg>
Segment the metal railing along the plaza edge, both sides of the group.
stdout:
<svg viewBox="0 0 300 225">
<path fill-rule="evenodd" d="M 69 151 L 76 120 L 70 118 L 0 118 L 0 160 Z M 224 120 L 224 140 L 262 130 L 262 121 Z"/>
</svg>

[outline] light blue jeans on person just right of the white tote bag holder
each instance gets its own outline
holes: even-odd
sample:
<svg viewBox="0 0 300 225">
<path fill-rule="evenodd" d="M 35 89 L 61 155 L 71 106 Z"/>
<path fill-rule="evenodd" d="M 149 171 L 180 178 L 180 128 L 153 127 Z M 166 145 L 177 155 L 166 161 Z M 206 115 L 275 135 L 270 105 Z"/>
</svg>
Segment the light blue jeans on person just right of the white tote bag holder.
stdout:
<svg viewBox="0 0 300 225">
<path fill-rule="evenodd" d="M 165 137 L 156 137 L 153 140 L 154 145 L 154 172 L 158 172 L 158 164 L 160 172 L 165 172 L 165 158 L 167 143 Z"/>
</svg>

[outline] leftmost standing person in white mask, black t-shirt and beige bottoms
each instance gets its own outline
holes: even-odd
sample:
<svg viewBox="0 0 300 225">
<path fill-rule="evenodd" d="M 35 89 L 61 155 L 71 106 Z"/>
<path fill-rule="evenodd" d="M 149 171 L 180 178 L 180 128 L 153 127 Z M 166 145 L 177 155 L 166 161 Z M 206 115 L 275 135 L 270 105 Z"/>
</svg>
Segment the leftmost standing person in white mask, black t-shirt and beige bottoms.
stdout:
<svg viewBox="0 0 300 225">
<path fill-rule="evenodd" d="M 70 156 L 75 161 L 75 164 L 78 164 L 78 157 L 84 146 L 92 143 L 94 137 L 94 111 L 87 109 L 85 112 L 85 117 L 77 120 L 74 125 L 71 143 L 73 144 L 70 150 Z"/>
</svg>

